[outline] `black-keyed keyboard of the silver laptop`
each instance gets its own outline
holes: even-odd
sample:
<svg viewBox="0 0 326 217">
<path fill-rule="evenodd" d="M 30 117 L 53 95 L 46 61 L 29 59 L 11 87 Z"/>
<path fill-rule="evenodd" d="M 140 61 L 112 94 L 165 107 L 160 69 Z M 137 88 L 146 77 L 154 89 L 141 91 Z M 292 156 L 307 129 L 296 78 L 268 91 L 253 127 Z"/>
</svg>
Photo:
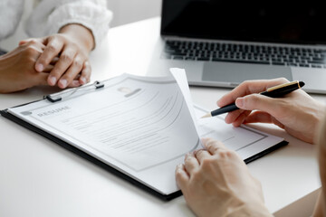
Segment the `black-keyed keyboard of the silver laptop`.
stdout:
<svg viewBox="0 0 326 217">
<path fill-rule="evenodd" d="M 166 41 L 162 58 L 326 68 L 326 50 L 221 42 Z"/>
</svg>

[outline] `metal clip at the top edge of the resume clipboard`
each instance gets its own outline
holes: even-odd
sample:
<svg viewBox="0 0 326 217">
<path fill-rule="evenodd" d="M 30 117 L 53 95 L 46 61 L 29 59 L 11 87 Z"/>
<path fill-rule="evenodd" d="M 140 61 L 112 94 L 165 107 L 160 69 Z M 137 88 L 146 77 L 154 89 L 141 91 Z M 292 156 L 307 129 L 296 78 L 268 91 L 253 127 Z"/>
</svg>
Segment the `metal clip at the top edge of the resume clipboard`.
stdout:
<svg viewBox="0 0 326 217">
<path fill-rule="evenodd" d="M 92 84 L 83 85 L 82 87 L 79 87 L 79 88 L 63 90 L 58 93 L 46 95 L 43 97 L 43 99 L 48 99 L 51 102 L 58 102 L 58 101 L 61 101 L 62 99 L 67 99 L 67 98 L 72 97 L 72 95 L 74 95 L 77 92 L 81 92 L 83 94 L 84 93 L 83 91 L 94 90 L 93 89 L 94 87 L 95 87 L 95 90 L 102 89 L 102 88 L 104 88 L 104 83 L 101 81 L 95 81 Z"/>
</svg>

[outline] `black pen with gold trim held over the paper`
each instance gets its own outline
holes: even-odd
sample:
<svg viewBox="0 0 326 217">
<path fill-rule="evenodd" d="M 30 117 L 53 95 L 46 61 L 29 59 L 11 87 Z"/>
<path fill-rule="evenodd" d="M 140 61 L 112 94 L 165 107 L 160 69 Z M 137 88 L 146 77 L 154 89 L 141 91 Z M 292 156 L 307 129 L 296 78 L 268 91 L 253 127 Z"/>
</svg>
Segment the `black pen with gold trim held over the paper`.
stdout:
<svg viewBox="0 0 326 217">
<path fill-rule="evenodd" d="M 269 88 L 259 94 L 267 96 L 267 97 L 271 97 L 271 98 L 280 98 L 288 93 L 291 93 L 294 90 L 301 89 L 303 86 L 304 86 L 303 81 L 295 80 L 295 81 L 292 81 L 289 83 L 284 83 L 284 84 L 274 86 L 274 87 Z M 213 110 L 213 111 L 207 113 L 202 118 L 215 117 L 215 116 L 224 114 L 226 112 L 234 111 L 236 109 L 239 109 L 239 108 L 237 108 L 235 106 L 235 103 L 232 103 L 232 104 L 222 107 L 220 109 Z"/>
</svg>

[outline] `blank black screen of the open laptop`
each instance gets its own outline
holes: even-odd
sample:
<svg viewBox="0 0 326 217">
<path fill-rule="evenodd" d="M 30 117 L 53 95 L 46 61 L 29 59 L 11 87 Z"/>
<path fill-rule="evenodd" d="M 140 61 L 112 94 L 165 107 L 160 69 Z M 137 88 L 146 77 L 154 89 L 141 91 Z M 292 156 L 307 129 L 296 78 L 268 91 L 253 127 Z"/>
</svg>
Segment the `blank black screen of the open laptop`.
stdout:
<svg viewBox="0 0 326 217">
<path fill-rule="evenodd" d="M 326 4 L 316 0 L 285 2 L 163 0 L 161 34 L 248 42 L 325 44 Z"/>
</svg>

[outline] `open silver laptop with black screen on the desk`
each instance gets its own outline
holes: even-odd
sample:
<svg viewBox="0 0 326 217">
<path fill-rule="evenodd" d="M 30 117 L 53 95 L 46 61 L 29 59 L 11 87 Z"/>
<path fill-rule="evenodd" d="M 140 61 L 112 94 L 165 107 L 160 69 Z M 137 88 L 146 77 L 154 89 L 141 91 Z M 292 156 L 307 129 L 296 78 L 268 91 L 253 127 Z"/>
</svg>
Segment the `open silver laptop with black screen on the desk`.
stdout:
<svg viewBox="0 0 326 217">
<path fill-rule="evenodd" d="M 183 68 L 190 85 L 225 88 L 284 77 L 325 94 L 324 8 L 315 0 L 163 0 L 161 37 L 148 75 Z"/>
</svg>

